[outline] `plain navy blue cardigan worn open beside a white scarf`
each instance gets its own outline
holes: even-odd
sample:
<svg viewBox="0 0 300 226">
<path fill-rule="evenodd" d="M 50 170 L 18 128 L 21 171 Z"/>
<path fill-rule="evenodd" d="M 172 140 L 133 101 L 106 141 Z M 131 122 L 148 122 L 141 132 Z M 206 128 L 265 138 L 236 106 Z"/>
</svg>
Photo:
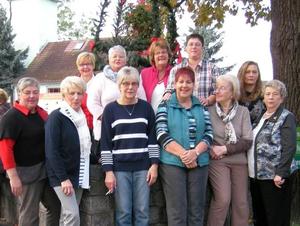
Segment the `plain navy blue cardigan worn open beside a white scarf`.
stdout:
<svg viewBox="0 0 300 226">
<path fill-rule="evenodd" d="M 73 122 L 59 109 L 54 110 L 45 127 L 46 168 L 52 187 L 70 179 L 78 187 L 80 143 Z"/>
</svg>

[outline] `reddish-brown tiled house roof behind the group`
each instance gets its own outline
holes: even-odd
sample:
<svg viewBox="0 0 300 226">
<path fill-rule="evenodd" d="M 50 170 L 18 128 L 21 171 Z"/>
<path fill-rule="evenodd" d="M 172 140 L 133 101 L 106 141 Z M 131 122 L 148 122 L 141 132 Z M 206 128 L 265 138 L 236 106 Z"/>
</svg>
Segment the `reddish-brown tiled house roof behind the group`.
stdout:
<svg viewBox="0 0 300 226">
<path fill-rule="evenodd" d="M 34 77 L 41 83 L 61 82 L 69 75 L 78 75 L 76 59 L 89 51 L 89 40 L 49 42 L 30 63 L 21 77 Z"/>
</svg>

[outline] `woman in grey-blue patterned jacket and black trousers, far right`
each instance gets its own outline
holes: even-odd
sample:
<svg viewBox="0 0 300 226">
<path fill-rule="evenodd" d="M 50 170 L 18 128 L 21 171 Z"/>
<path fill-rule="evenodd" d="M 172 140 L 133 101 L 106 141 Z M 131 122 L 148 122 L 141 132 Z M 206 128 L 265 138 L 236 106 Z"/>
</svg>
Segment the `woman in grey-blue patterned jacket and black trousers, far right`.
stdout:
<svg viewBox="0 0 300 226">
<path fill-rule="evenodd" d="M 248 166 L 256 226 L 290 225 L 292 176 L 296 169 L 296 119 L 282 106 L 285 85 L 272 80 L 263 89 L 266 112 L 254 126 Z"/>
</svg>

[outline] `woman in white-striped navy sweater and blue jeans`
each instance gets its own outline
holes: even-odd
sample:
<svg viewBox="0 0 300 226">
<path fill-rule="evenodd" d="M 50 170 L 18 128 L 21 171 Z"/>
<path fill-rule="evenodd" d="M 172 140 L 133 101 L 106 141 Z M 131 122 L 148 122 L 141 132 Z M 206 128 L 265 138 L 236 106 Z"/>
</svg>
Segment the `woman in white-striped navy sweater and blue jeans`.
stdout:
<svg viewBox="0 0 300 226">
<path fill-rule="evenodd" d="M 108 193 L 115 192 L 116 225 L 149 225 L 150 186 L 156 181 L 159 149 L 151 105 L 136 98 L 139 73 L 123 67 L 120 97 L 103 112 L 101 159 Z"/>
</svg>

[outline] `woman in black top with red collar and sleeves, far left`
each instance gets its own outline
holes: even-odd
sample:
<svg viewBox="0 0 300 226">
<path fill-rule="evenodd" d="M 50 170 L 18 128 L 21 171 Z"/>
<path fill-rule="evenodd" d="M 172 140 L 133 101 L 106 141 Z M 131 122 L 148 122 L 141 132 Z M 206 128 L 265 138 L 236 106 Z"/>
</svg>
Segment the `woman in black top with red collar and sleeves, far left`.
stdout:
<svg viewBox="0 0 300 226">
<path fill-rule="evenodd" d="M 20 226 L 39 225 L 40 201 L 48 209 L 47 225 L 59 225 L 60 204 L 45 169 L 44 122 L 38 106 L 39 82 L 24 77 L 17 83 L 18 100 L 0 121 L 0 155 L 12 193 L 19 201 Z"/>
</svg>

